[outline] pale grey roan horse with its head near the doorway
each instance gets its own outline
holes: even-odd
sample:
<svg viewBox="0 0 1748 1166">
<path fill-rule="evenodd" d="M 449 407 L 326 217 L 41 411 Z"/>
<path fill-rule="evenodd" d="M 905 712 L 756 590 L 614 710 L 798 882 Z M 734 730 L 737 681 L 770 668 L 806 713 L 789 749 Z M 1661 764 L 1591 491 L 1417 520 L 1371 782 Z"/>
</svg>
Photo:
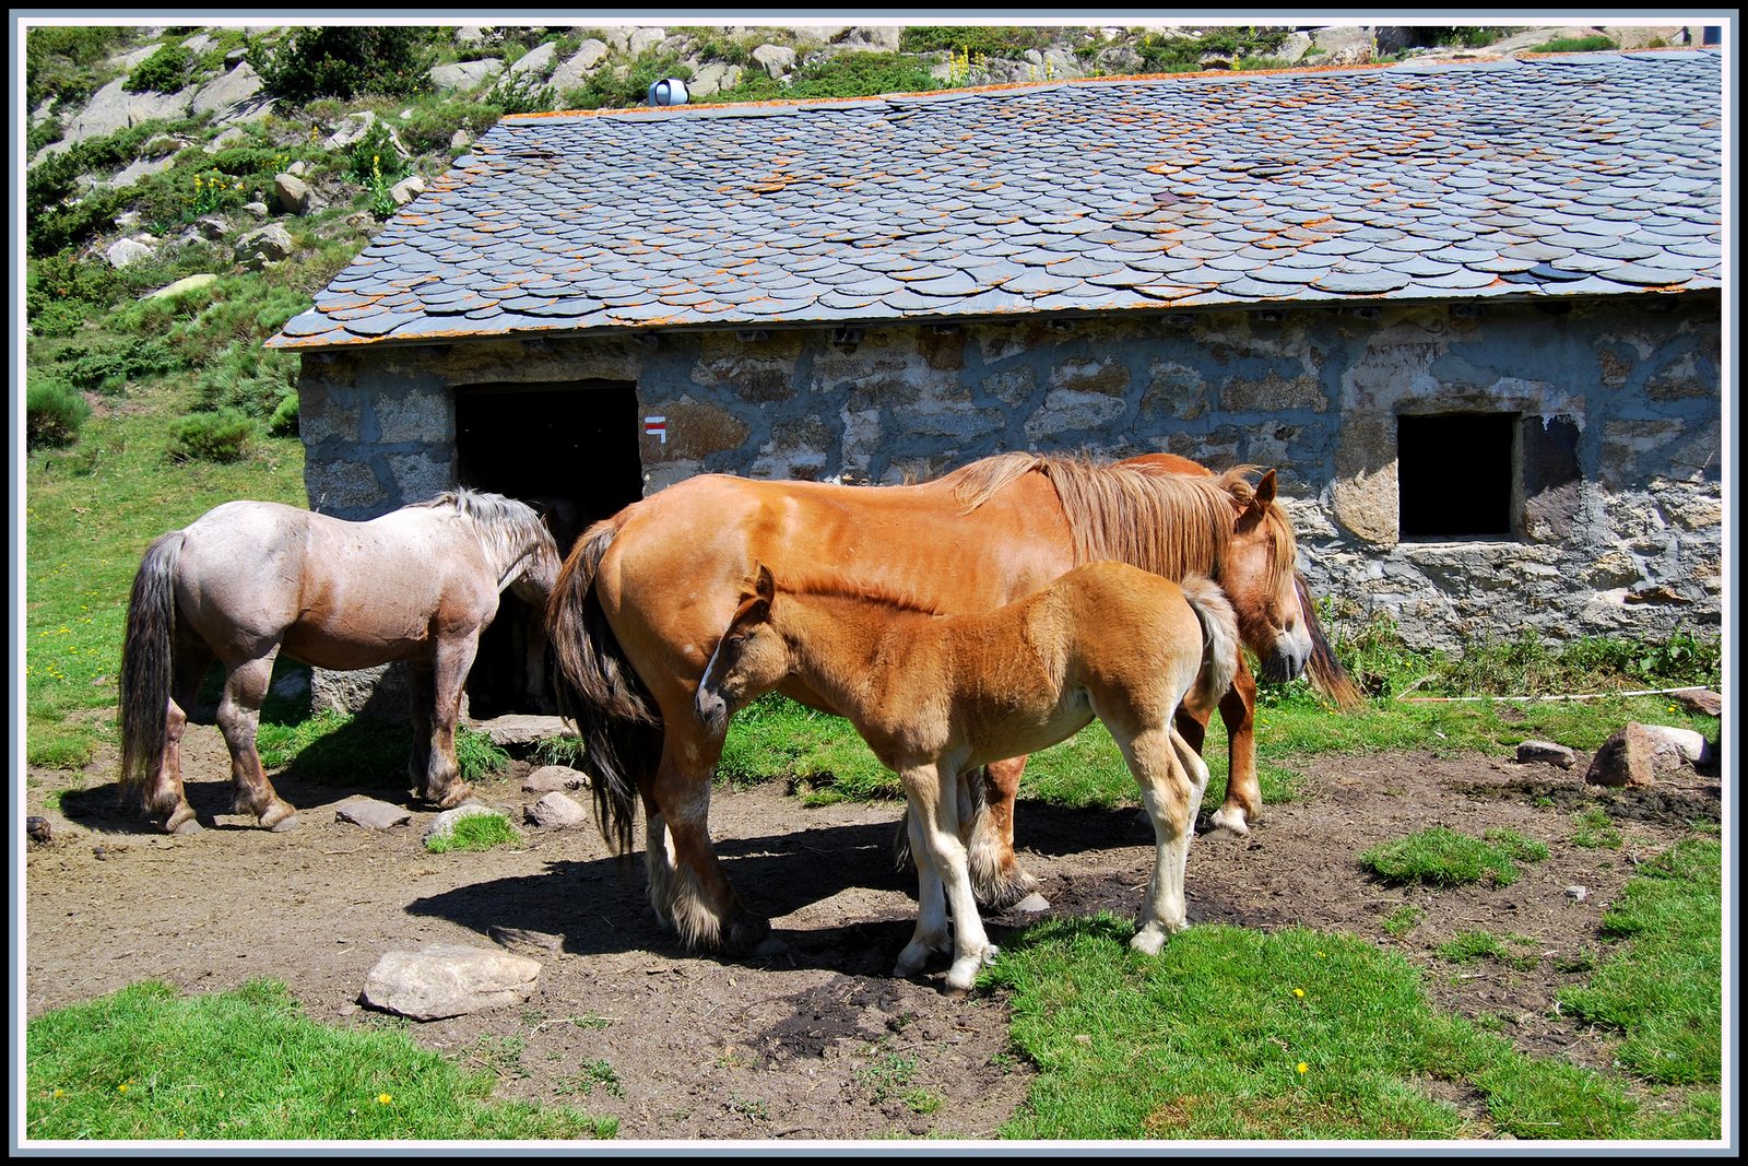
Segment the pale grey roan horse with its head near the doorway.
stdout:
<svg viewBox="0 0 1748 1166">
<path fill-rule="evenodd" d="M 558 545 L 540 516 L 502 495 L 458 489 L 367 523 L 278 502 L 225 502 L 147 547 L 121 657 L 122 785 L 164 830 L 198 830 L 182 792 L 182 731 L 213 657 L 224 664 L 218 727 L 236 813 L 297 825 L 273 790 L 255 729 L 273 661 L 350 671 L 406 661 L 413 682 L 414 792 L 439 806 L 460 781 L 454 725 L 479 633 L 512 587 L 545 607 Z"/>
</svg>

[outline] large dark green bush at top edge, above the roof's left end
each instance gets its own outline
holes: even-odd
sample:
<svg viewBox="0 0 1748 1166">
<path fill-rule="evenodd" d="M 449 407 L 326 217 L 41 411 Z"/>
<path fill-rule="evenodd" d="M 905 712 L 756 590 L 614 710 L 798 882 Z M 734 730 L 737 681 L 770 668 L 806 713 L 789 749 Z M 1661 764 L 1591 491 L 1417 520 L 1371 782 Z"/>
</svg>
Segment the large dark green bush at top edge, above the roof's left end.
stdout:
<svg viewBox="0 0 1748 1166">
<path fill-rule="evenodd" d="M 413 96 L 430 87 L 434 30 L 411 26 L 301 28 L 280 42 L 255 42 L 250 66 L 262 89 L 283 101 L 355 98 L 360 93 Z"/>
</svg>

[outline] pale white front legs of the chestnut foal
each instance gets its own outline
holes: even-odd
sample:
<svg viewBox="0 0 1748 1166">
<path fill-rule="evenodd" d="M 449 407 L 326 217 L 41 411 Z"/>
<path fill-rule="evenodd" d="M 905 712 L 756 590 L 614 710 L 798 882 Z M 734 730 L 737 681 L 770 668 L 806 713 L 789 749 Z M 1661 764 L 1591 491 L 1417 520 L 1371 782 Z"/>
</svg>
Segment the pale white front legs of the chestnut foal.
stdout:
<svg viewBox="0 0 1748 1166">
<path fill-rule="evenodd" d="M 958 771 L 928 762 L 907 766 L 902 773 L 904 792 L 911 802 L 912 848 L 918 851 L 919 909 L 916 933 L 898 956 L 895 975 L 909 975 L 928 949 L 937 942 L 942 921 L 930 918 L 933 892 L 932 878 L 939 878 L 946 902 L 953 909 L 953 967 L 947 968 L 947 993 L 963 996 L 972 989 L 979 968 L 996 956 L 982 920 L 977 916 L 977 895 L 972 892 L 970 858 L 960 839 Z M 925 864 L 933 867 L 925 874 Z M 939 900 L 935 900 L 939 911 Z"/>
</svg>

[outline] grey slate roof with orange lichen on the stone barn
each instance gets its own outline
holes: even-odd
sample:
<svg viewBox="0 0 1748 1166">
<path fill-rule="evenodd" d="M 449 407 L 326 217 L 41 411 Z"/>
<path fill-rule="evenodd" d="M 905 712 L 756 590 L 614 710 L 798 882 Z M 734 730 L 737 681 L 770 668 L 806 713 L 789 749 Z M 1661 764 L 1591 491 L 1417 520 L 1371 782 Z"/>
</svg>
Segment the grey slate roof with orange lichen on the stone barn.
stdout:
<svg viewBox="0 0 1748 1166">
<path fill-rule="evenodd" d="M 1722 281 L 1717 51 L 505 117 L 276 348 Z"/>
</svg>

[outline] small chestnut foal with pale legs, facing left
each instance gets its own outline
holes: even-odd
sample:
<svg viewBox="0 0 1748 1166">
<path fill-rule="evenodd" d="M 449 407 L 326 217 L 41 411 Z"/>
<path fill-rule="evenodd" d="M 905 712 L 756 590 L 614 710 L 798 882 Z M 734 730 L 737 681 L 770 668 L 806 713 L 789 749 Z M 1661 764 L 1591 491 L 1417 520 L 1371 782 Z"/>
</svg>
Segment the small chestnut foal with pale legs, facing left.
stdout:
<svg viewBox="0 0 1748 1166">
<path fill-rule="evenodd" d="M 823 696 L 904 780 L 918 916 L 893 975 L 946 946 L 947 991 L 970 991 L 996 949 L 977 918 L 960 780 L 977 766 L 1065 741 L 1098 717 L 1154 823 L 1154 874 L 1129 940 L 1159 954 L 1189 927 L 1183 871 L 1208 766 L 1173 727 L 1190 703 L 1208 717 L 1238 668 L 1238 619 L 1211 580 L 1182 584 L 1126 563 L 1086 563 L 1047 589 L 975 615 L 785 580 L 759 566 L 717 642 L 694 710 L 713 732 L 788 678 Z"/>
</svg>

